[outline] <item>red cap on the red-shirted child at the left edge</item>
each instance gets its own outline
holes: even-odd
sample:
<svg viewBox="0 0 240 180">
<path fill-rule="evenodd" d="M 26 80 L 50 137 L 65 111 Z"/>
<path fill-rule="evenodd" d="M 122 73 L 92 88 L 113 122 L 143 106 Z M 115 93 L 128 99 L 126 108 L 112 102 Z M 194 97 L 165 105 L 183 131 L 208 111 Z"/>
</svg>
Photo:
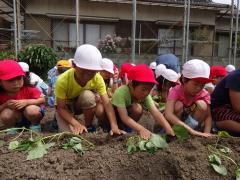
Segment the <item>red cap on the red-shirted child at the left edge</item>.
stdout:
<svg viewBox="0 0 240 180">
<path fill-rule="evenodd" d="M 0 61 L 0 80 L 9 80 L 17 76 L 24 76 L 21 66 L 14 60 Z"/>
</svg>

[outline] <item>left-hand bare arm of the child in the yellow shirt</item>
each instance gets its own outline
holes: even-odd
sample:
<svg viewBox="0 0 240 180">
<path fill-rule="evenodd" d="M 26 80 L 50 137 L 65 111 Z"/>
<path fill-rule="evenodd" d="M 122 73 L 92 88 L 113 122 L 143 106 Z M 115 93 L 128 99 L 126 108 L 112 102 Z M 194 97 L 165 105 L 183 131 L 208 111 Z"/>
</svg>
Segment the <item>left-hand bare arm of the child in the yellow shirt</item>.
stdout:
<svg viewBox="0 0 240 180">
<path fill-rule="evenodd" d="M 57 108 L 56 111 L 58 114 L 68 123 L 70 124 L 71 130 L 75 134 L 81 134 L 83 132 L 87 132 L 87 128 L 79 123 L 73 115 L 69 112 L 64 99 L 57 98 Z"/>
</svg>

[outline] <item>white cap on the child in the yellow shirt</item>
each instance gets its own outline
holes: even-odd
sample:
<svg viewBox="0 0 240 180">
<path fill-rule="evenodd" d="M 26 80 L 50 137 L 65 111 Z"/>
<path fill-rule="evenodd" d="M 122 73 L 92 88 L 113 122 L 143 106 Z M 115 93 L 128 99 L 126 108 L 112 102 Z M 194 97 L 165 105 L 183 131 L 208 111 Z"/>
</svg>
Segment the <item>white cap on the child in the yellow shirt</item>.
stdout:
<svg viewBox="0 0 240 180">
<path fill-rule="evenodd" d="M 84 44 L 77 48 L 73 62 L 77 67 L 83 69 L 102 70 L 101 60 L 102 55 L 95 46 Z"/>
</svg>

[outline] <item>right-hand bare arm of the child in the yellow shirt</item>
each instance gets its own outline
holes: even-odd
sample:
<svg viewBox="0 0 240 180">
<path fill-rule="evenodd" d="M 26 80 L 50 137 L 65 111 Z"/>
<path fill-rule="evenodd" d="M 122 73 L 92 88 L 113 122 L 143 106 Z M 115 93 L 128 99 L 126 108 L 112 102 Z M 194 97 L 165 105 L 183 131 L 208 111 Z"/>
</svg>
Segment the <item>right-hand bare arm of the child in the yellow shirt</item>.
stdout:
<svg viewBox="0 0 240 180">
<path fill-rule="evenodd" d="M 113 110 L 112 103 L 110 102 L 108 95 L 104 94 L 101 95 L 101 100 L 105 109 L 105 112 L 107 114 L 110 126 L 111 126 L 111 134 L 125 134 L 124 131 L 118 129 L 117 121 L 116 121 L 116 116 L 115 112 Z"/>
</svg>

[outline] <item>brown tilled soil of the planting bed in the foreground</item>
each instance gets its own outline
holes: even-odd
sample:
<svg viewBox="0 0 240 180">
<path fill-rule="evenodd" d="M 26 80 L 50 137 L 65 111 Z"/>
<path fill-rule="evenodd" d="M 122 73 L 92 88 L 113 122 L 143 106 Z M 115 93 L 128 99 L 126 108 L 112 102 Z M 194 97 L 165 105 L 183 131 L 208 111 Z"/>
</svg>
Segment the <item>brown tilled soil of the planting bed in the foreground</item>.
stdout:
<svg viewBox="0 0 240 180">
<path fill-rule="evenodd" d="M 51 119 L 52 109 L 44 121 Z M 145 114 L 142 121 L 143 124 L 149 122 L 149 116 Z M 148 128 L 153 128 L 152 124 Z M 54 146 L 43 158 L 27 161 L 23 152 L 1 147 L 0 179 L 235 179 L 236 167 L 230 161 L 222 160 L 228 169 L 227 176 L 216 174 L 208 164 L 207 145 L 215 144 L 217 138 L 174 140 L 168 148 L 155 154 L 128 154 L 127 136 L 110 137 L 102 131 L 83 136 L 95 144 L 95 148 L 83 156 Z M 0 137 L 11 138 L 9 135 Z M 231 148 L 231 157 L 239 162 L 239 138 L 222 138 L 218 143 Z"/>
</svg>

